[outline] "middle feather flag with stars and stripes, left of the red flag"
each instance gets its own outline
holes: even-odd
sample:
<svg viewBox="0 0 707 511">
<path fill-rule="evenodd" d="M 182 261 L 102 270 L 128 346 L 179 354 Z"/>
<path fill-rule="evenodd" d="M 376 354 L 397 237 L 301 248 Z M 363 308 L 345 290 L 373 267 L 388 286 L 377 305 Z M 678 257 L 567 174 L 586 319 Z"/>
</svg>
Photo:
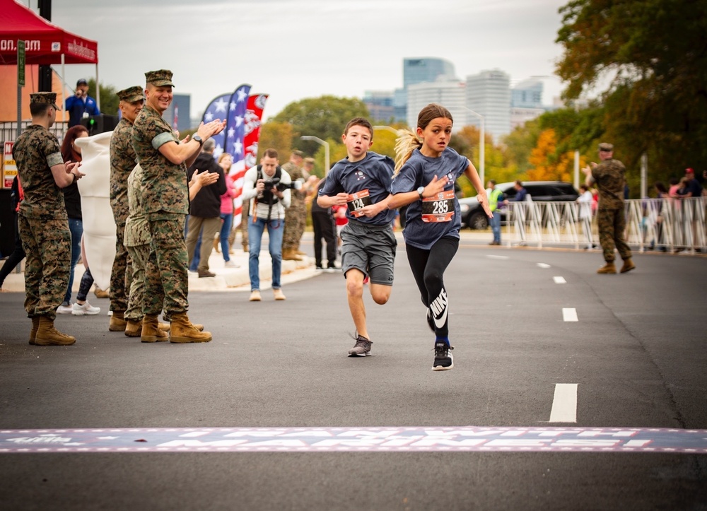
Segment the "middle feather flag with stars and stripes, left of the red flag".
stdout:
<svg viewBox="0 0 707 511">
<path fill-rule="evenodd" d="M 230 98 L 228 104 L 228 124 L 226 124 L 226 145 L 225 151 L 233 157 L 228 176 L 233 180 L 233 187 L 236 189 L 237 199 L 234 200 L 233 225 L 240 223 L 240 213 L 243 201 L 240 199 L 240 190 L 243 189 L 243 176 L 245 175 L 245 114 L 248 106 L 248 93 L 250 84 L 243 83 Z M 235 211 L 235 207 L 238 211 Z"/>
</svg>

